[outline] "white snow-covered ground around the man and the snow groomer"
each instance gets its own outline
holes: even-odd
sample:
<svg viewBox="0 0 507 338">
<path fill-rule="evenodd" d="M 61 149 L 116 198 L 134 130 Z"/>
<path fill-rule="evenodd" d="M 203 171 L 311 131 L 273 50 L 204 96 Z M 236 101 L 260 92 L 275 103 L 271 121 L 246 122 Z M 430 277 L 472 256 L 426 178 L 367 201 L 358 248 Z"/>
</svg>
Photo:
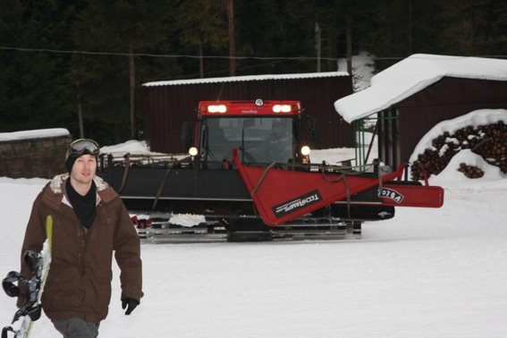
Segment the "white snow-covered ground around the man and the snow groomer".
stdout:
<svg viewBox="0 0 507 338">
<path fill-rule="evenodd" d="M 118 151 L 143 151 L 131 146 Z M 352 154 L 312 158 L 334 164 Z M 507 180 L 443 173 L 444 207 L 397 208 L 392 220 L 364 224 L 361 240 L 143 244 L 145 297 L 123 315 L 114 265 L 99 336 L 507 337 Z M 46 182 L 0 177 L 0 274 L 19 269 L 31 203 Z M 0 325 L 9 325 L 14 300 L 0 299 Z M 32 336 L 59 335 L 43 316 Z"/>
</svg>

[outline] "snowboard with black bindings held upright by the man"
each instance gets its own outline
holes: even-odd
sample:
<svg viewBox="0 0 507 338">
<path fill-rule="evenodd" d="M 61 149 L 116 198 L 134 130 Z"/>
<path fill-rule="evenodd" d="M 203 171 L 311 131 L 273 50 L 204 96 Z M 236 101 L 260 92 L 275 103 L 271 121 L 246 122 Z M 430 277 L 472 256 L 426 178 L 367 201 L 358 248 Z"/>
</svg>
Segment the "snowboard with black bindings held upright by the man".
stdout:
<svg viewBox="0 0 507 338">
<path fill-rule="evenodd" d="M 51 264 L 51 248 L 53 241 L 53 217 L 51 215 L 48 215 L 46 218 L 46 237 L 47 239 L 44 242 L 41 252 L 32 250 L 27 250 L 25 252 L 25 265 L 28 266 L 33 273 L 30 280 L 18 272 L 11 271 L 2 282 L 4 291 L 8 296 L 23 297 L 25 300 L 25 305 L 16 312 L 12 323 L 14 324 L 14 322 L 23 317 L 21 328 L 16 331 L 12 326 L 5 326 L 2 330 L 2 338 L 8 338 L 7 334 L 9 332 L 14 334 L 14 338 L 28 338 L 33 322 L 38 320 L 41 315 L 42 308 L 40 305 L 40 298 L 44 291 L 49 265 Z M 26 284 L 27 291 L 22 294 L 14 282 Z"/>
</svg>

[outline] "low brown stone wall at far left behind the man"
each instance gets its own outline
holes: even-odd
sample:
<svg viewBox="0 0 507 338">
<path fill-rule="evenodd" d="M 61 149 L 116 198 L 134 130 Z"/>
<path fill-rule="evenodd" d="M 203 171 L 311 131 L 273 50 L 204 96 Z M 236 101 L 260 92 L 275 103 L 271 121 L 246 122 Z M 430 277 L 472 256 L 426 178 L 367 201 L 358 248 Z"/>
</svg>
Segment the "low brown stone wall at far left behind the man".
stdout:
<svg viewBox="0 0 507 338">
<path fill-rule="evenodd" d="M 72 136 L 0 142 L 0 176 L 51 179 L 65 173 L 65 150 Z"/>
</svg>

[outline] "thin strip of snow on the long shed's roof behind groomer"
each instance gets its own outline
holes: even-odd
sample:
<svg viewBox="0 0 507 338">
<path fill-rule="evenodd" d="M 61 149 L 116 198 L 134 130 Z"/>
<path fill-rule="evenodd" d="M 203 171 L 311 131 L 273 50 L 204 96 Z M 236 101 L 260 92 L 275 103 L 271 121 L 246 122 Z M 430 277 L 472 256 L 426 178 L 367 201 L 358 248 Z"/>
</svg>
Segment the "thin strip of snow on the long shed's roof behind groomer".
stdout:
<svg viewBox="0 0 507 338">
<path fill-rule="evenodd" d="M 223 77 L 223 78 L 209 78 L 209 79 L 156 81 L 156 82 L 144 83 L 143 86 L 145 86 L 145 87 L 174 86 L 174 85 L 181 85 L 181 84 L 234 82 L 234 81 L 251 81 L 251 80 L 329 78 L 329 77 L 333 77 L 333 76 L 349 76 L 349 73 L 348 72 L 308 72 L 308 73 L 300 73 L 300 74 L 266 74 L 266 75 L 229 76 L 229 77 Z"/>
</svg>

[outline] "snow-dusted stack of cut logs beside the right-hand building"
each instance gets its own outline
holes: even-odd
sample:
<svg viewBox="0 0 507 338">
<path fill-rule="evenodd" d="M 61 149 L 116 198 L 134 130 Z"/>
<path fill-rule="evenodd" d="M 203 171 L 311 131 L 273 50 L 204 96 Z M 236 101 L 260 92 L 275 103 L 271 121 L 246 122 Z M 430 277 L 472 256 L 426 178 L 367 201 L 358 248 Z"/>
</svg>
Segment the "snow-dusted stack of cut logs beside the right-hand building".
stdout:
<svg viewBox="0 0 507 338">
<path fill-rule="evenodd" d="M 477 127 L 468 126 L 455 131 L 452 135 L 445 131 L 433 139 L 436 149 L 426 149 L 418 155 L 418 160 L 411 165 L 412 180 L 424 179 L 423 168 L 430 174 L 441 173 L 461 149 L 471 149 L 482 156 L 490 165 L 500 167 L 507 173 L 507 125 L 503 121 Z M 469 178 L 482 177 L 484 173 L 477 167 L 461 164 L 459 171 Z"/>
</svg>

